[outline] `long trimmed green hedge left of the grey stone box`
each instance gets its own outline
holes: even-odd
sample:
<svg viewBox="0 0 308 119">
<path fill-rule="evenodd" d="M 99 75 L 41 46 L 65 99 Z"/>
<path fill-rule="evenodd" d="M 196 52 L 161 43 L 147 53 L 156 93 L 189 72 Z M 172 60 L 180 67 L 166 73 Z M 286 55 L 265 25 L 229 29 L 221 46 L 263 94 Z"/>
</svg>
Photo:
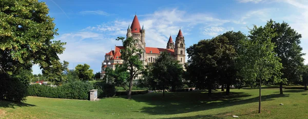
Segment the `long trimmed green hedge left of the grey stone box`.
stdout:
<svg viewBox="0 0 308 119">
<path fill-rule="evenodd" d="M 88 82 L 66 83 L 58 87 L 34 84 L 28 87 L 28 96 L 88 100 L 93 85 Z"/>
</svg>

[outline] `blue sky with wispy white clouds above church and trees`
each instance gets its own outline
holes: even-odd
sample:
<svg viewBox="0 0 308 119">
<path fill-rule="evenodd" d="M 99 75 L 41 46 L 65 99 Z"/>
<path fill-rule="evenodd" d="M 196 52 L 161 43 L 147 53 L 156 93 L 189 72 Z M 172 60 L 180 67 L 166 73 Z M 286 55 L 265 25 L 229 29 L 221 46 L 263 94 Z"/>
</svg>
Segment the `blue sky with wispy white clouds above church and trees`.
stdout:
<svg viewBox="0 0 308 119">
<path fill-rule="evenodd" d="M 302 34 L 303 53 L 308 54 L 308 1 L 306 0 L 220 0 L 220 1 L 99 1 L 44 0 L 49 15 L 59 29 L 54 40 L 67 44 L 59 55 L 69 69 L 89 64 L 93 73 L 101 71 L 105 54 L 122 45 L 115 39 L 126 36 L 128 25 L 137 14 L 144 26 L 149 47 L 166 48 L 169 36 L 176 39 L 181 29 L 185 46 L 210 39 L 226 31 L 248 34 L 253 25 L 266 21 L 287 22 Z M 308 59 L 308 56 L 304 56 Z M 186 57 L 187 59 L 187 57 Z M 187 61 L 187 60 L 186 60 Z M 305 63 L 308 63 L 305 60 Z M 33 74 L 41 74 L 37 64 Z"/>
</svg>

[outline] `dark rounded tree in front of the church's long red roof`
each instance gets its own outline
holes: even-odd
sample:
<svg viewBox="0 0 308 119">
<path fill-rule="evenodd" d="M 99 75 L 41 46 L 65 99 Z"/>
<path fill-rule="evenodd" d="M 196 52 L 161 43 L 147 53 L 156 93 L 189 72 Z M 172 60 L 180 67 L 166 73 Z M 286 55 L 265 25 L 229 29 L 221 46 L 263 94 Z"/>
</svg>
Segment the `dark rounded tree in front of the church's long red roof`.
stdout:
<svg viewBox="0 0 308 119">
<path fill-rule="evenodd" d="M 182 85 L 183 67 L 179 61 L 170 57 L 167 52 L 163 52 L 158 59 L 153 63 L 152 67 L 152 86 L 163 90 L 171 86 L 171 90 L 175 90 Z"/>
</svg>

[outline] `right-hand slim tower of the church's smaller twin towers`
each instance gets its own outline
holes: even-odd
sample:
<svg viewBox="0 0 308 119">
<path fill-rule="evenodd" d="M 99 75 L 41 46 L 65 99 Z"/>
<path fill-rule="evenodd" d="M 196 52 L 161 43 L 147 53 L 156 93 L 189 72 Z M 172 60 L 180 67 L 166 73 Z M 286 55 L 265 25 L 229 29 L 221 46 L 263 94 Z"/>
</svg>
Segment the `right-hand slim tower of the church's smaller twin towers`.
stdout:
<svg viewBox="0 0 308 119">
<path fill-rule="evenodd" d="M 180 29 L 175 43 L 175 59 L 180 61 L 180 64 L 184 66 L 185 57 L 185 40 Z"/>
</svg>

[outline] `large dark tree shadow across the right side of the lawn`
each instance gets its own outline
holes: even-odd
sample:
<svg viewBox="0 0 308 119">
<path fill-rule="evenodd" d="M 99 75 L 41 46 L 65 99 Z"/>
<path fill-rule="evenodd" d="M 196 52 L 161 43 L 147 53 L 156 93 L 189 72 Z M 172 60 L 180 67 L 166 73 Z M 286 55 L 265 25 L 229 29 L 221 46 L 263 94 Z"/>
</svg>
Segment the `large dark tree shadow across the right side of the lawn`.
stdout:
<svg viewBox="0 0 308 119">
<path fill-rule="evenodd" d="M 178 94 L 176 92 L 169 92 L 165 93 L 165 97 L 162 97 L 162 93 L 151 93 L 133 96 L 132 99 L 137 102 L 145 102 L 149 105 L 153 105 L 153 107 L 143 107 L 142 112 L 153 115 L 161 115 L 195 112 L 247 103 L 255 103 L 259 101 L 259 97 L 242 99 L 250 96 L 252 95 L 244 92 L 231 92 L 229 96 L 225 96 L 225 92 L 219 91 L 213 92 L 211 97 L 207 97 L 206 92 L 193 91 L 178 92 Z M 267 96 L 262 96 L 261 99 L 262 101 L 271 101 L 275 100 L 274 98 L 280 97 L 288 97 L 288 94 L 269 94 Z M 213 116 L 215 115 L 198 115 L 196 117 L 187 118 L 213 118 Z"/>
</svg>

